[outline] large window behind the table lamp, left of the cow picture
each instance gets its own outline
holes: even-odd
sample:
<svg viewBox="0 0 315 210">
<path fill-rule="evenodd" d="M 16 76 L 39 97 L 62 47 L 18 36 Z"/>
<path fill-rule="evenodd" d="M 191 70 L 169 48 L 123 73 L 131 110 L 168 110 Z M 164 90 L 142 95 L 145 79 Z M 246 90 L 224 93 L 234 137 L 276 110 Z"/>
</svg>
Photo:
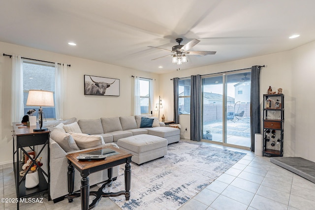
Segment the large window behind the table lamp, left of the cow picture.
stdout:
<svg viewBox="0 0 315 210">
<path fill-rule="evenodd" d="M 29 90 L 49 90 L 54 92 L 55 98 L 55 66 L 43 63 L 23 61 L 23 93 L 24 114 L 30 109 L 35 109 L 37 116 L 38 108 L 26 106 Z M 42 107 L 46 119 L 56 118 L 55 107 Z"/>
</svg>

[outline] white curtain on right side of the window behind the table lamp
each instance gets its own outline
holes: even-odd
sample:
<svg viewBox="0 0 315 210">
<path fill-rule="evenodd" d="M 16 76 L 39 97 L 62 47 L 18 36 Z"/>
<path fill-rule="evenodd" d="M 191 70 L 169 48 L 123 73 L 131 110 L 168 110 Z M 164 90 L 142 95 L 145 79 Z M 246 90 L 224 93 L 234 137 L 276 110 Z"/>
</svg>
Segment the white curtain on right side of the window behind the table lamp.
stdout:
<svg viewBox="0 0 315 210">
<path fill-rule="evenodd" d="M 63 104 L 66 94 L 67 64 L 55 63 L 55 110 L 56 120 L 63 120 Z"/>
</svg>

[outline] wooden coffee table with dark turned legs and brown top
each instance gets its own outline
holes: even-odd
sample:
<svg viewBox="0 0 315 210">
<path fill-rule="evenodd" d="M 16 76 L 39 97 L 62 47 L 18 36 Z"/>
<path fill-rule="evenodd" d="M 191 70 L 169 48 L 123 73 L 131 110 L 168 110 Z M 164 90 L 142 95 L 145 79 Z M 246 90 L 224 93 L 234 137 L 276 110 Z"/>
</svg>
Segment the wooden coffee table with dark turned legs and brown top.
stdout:
<svg viewBox="0 0 315 210">
<path fill-rule="evenodd" d="M 89 152 L 97 152 L 97 150 L 111 149 L 116 151 L 115 154 L 107 156 L 103 160 L 78 160 L 77 157 L 80 154 L 85 154 Z M 71 203 L 73 198 L 81 196 L 81 209 L 89 210 L 93 209 L 102 197 L 117 197 L 120 195 L 125 195 L 126 200 L 130 198 L 130 185 L 131 185 L 131 153 L 124 150 L 118 149 L 116 147 L 100 147 L 93 150 L 79 151 L 71 154 L 67 154 L 68 158 L 68 201 Z M 112 167 L 126 163 L 125 166 L 125 190 L 119 192 L 104 193 L 102 189 L 106 185 L 112 183 Z M 74 189 L 74 168 L 76 168 L 81 174 L 81 190 L 80 193 L 73 192 Z M 99 188 L 98 191 L 90 192 L 89 175 L 101 170 L 108 170 L 108 180 Z M 95 196 L 93 202 L 89 205 L 89 195 Z"/>
</svg>

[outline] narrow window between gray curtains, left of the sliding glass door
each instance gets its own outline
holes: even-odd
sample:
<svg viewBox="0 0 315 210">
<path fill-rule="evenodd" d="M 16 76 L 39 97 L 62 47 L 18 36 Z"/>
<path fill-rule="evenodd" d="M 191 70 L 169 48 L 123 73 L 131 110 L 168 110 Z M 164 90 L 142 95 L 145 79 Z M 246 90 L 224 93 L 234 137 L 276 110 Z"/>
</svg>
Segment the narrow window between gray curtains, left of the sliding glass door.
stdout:
<svg viewBox="0 0 315 210">
<path fill-rule="evenodd" d="M 180 115 L 190 114 L 190 78 L 179 80 L 178 83 L 178 108 Z"/>
</svg>

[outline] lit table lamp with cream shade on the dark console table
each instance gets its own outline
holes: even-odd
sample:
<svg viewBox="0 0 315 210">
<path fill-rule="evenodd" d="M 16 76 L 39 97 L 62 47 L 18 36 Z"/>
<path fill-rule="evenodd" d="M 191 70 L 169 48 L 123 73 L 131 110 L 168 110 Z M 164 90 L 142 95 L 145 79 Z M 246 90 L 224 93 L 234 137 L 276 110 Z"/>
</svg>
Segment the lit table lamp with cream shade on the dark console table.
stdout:
<svg viewBox="0 0 315 210">
<path fill-rule="evenodd" d="M 43 109 L 42 106 L 54 106 L 54 93 L 46 90 L 30 90 L 27 106 L 39 106 L 40 123 L 39 129 L 36 128 L 34 132 L 47 131 L 48 128 L 43 127 Z"/>
</svg>

